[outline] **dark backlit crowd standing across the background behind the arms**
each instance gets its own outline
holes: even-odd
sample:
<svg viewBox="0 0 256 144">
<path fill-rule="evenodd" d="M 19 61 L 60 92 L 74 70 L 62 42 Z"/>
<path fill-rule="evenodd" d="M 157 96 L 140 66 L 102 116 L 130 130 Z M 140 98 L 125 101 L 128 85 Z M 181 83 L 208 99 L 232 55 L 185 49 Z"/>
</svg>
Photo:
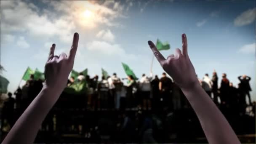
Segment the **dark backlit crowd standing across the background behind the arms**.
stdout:
<svg viewBox="0 0 256 144">
<path fill-rule="evenodd" d="M 237 134 L 255 133 L 255 101 L 251 101 L 250 77 L 239 76 L 238 87 L 222 74 L 221 85 L 214 70 L 212 78 L 205 74 L 199 82 L 205 92 L 229 121 Z M 126 80 L 127 83 L 123 83 Z M 178 85 L 165 72 L 158 78 L 145 74 L 139 80 L 132 75 L 112 76 L 83 75 L 70 77 L 67 86 L 76 81 L 86 81 L 86 91 L 79 94 L 62 92 L 59 100 L 45 118 L 37 141 L 61 141 L 58 134 L 72 133 L 79 142 L 198 142 L 204 137 L 189 102 Z M 43 80 L 30 80 L 22 88 L 8 93 L 2 109 L 3 136 L 43 87 Z M 249 102 L 246 103 L 246 96 Z M 238 122 L 239 120 L 240 122 Z M 185 131 L 181 127 L 184 126 Z M 240 126 L 243 125 L 243 126 Z M 189 130 L 190 129 L 190 130 Z M 192 130 L 194 133 L 192 133 Z M 46 133 L 47 132 L 47 133 Z M 47 139 L 45 139 L 47 135 Z M 64 141 L 74 142 L 74 138 Z M 72 139 L 72 140 L 71 140 Z M 184 140 L 184 139 L 183 139 Z"/>
</svg>

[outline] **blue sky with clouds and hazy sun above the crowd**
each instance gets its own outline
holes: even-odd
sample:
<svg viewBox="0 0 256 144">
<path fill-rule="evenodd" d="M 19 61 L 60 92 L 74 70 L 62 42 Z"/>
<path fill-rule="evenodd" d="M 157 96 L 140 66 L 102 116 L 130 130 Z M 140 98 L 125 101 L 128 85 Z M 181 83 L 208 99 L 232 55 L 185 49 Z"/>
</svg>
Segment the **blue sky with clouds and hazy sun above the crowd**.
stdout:
<svg viewBox="0 0 256 144">
<path fill-rule="evenodd" d="M 149 75 L 152 52 L 147 41 L 168 41 L 168 56 L 188 37 L 189 57 L 198 77 L 211 76 L 238 84 L 239 75 L 251 76 L 256 100 L 255 1 L 2 1 L 0 2 L 0 62 L 13 92 L 29 66 L 44 69 L 48 51 L 68 52 L 72 34 L 80 41 L 74 69 L 88 68 L 101 75 L 101 67 L 125 77 L 121 62 L 137 77 Z M 163 69 L 155 60 L 154 75 Z M 183 74 L 186 75 L 186 74 Z M 219 79 L 220 82 L 221 79 Z M 22 82 L 24 83 L 24 82 Z"/>
</svg>

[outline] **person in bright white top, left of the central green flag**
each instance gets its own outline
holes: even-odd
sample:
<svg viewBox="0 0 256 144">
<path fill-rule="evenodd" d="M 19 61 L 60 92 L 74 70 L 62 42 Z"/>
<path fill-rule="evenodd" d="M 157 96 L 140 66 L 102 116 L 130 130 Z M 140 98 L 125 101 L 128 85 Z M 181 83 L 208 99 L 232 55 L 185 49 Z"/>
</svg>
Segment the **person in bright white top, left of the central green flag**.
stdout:
<svg viewBox="0 0 256 144">
<path fill-rule="evenodd" d="M 115 94 L 116 94 L 116 89 L 114 85 L 114 81 L 112 80 L 112 77 L 108 76 L 107 81 L 109 83 L 109 108 L 113 109 L 115 107 Z"/>
</svg>

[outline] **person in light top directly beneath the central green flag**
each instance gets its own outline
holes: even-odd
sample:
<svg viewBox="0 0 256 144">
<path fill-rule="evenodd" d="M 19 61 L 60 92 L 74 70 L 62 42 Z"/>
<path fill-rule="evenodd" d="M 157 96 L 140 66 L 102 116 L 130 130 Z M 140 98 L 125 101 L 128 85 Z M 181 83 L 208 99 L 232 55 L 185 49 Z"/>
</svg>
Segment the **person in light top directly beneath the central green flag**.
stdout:
<svg viewBox="0 0 256 144">
<path fill-rule="evenodd" d="M 128 75 L 127 77 L 127 85 L 126 85 L 126 107 L 131 109 L 133 107 L 133 87 L 135 86 L 136 82 L 133 79 L 132 75 Z"/>
</svg>

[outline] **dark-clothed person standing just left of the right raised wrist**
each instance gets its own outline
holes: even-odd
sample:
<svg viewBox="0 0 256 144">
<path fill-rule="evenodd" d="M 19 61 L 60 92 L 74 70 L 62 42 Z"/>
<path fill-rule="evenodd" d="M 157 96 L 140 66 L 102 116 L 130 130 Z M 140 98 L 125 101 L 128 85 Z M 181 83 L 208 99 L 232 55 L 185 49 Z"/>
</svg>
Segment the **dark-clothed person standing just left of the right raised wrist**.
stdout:
<svg viewBox="0 0 256 144">
<path fill-rule="evenodd" d="M 172 81 L 169 77 L 166 76 L 166 73 L 163 72 L 161 79 L 159 80 L 159 91 L 164 107 L 170 107 L 171 102 L 171 85 Z"/>
</svg>

